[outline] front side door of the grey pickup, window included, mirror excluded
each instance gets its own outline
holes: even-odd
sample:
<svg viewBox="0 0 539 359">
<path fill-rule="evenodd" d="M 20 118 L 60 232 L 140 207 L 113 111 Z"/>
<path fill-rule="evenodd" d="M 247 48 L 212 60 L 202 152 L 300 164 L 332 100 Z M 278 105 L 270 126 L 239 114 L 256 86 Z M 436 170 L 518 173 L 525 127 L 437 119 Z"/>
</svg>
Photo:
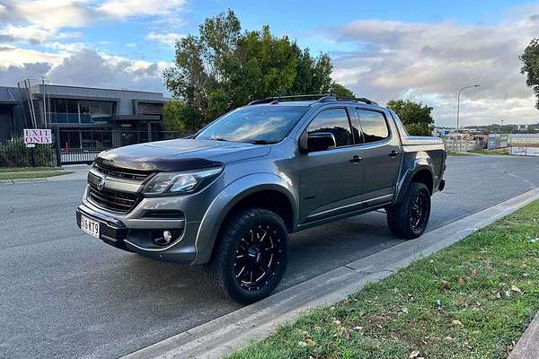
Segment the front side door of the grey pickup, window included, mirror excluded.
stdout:
<svg viewBox="0 0 539 359">
<path fill-rule="evenodd" d="M 307 134 L 331 132 L 336 148 L 299 155 L 301 171 L 301 222 L 323 219 L 358 201 L 364 163 L 350 129 L 346 107 L 323 109 L 306 127 Z M 354 131 L 356 136 L 358 132 Z M 304 132 L 305 135 L 305 132 Z"/>
</svg>

